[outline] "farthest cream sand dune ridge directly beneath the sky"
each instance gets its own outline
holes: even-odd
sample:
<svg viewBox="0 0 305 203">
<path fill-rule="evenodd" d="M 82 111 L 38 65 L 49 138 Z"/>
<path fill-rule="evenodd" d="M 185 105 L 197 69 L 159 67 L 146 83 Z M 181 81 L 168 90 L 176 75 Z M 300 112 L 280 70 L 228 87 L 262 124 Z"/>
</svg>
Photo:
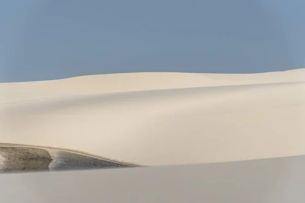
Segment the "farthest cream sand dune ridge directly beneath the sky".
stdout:
<svg viewBox="0 0 305 203">
<path fill-rule="evenodd" d="M 305 69 L 260 74 L 126 73 L 0 83 L 0 102 L 111 92 L 302 82 Z"/>
</svg>

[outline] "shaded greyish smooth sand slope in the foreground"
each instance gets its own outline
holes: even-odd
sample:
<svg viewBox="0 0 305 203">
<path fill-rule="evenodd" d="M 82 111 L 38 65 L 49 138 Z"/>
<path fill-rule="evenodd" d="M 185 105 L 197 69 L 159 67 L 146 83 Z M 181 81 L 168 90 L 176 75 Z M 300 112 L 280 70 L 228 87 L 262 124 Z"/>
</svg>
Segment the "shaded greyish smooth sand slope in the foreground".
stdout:
<svg viewBox="0 0 305 203">
<path fill-rule="evenodd" d="M 0 202 L 303 203 L 305 156 L 0 175 Z"/>
</svg>

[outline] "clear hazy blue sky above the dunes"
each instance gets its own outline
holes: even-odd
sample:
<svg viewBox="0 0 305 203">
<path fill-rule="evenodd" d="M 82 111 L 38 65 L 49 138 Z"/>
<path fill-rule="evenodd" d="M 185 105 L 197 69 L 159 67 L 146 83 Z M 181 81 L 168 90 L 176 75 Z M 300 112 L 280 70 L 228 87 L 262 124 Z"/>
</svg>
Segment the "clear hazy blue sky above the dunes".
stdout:
<svg viewBox="0 0 305 203">
<path fill-rule="evenodd" d="M 305 67 L 303 0 L 4 0 L 0 82 Z"/>
</svg>

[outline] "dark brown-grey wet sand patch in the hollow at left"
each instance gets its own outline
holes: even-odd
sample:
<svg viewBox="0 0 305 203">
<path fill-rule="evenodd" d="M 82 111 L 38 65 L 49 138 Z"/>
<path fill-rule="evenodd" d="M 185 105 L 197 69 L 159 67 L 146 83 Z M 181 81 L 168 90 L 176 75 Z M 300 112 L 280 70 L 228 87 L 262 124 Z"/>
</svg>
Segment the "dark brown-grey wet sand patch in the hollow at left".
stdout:
<svg viewBox="0 0 305 203">
<path fill-rule="evenodd" d="M 132 166 L 57 149 L 14 146 L 12 144 L 0 145 L 0 173 L 89 170 L 118 167 Z"/>
</svg>

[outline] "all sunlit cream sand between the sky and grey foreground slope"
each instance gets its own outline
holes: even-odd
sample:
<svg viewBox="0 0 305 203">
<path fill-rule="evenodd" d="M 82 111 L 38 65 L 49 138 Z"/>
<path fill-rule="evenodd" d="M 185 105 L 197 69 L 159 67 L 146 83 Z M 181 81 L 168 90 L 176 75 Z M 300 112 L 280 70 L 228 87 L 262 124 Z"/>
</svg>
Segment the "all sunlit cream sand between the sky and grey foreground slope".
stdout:
<svg viewBox="0 0 305 203">
<path fill-rule="evenodd" d="M 301 155 L 304 92 L 305 69 L 2 83 L 0 142 L 143 165 Z"/>
</svg>

